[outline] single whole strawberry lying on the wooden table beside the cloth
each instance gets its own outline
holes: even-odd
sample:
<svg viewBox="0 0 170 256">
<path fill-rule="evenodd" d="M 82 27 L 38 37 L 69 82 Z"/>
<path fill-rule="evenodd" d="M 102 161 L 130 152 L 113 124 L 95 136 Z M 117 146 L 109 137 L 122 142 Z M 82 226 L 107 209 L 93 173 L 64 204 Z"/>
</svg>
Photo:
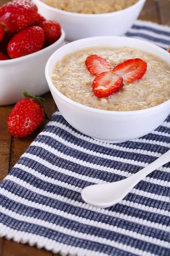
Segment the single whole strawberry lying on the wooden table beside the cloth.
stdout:
<svg viewBox="0 0 170 256">
<path fill-rule="evenodd" d="M 23 94 L 26 98 L 17 102 L 7 121 L 9 132 L 17 138 L 28 136 L 38 128 L 44 118 L 49 119 L 42 105 L 45 99 L 30 96 L 26 91 Z"/>
</svg>

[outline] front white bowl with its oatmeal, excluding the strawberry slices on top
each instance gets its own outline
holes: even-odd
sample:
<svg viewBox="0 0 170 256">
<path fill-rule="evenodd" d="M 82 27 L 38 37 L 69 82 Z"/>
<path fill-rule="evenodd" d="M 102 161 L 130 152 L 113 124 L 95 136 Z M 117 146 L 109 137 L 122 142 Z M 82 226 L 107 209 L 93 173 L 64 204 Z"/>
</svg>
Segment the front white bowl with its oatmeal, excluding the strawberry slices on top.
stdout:
<svg viewBox="0 0 170 256">
<path fill-rule="evenodd" d="M 77 50 L 78 49 L 78 50 Z M 108 97 L 98 98 L 88 56 L 107 59 L 112 68 L 139 58 L 147 64 L 141 79 Z M 170 58 L 164 49 L 134 38 L 96 37 L 74 41 L 49 58 L 45 76 L 66 121 L 83 134 L 107 143 L 142 137 L 170 113 Z"/>
</svg>

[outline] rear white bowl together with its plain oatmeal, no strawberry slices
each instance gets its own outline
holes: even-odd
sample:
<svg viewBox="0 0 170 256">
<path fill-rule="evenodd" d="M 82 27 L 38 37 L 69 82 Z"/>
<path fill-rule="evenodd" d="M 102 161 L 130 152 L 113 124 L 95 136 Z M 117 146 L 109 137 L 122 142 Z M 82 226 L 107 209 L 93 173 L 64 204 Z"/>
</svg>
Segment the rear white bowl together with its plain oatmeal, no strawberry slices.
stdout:
<svg viewBox="0 0 170 256">
<path fill-rule="evenodd" d="M 145 0 L 32 0 L 38 11 L 57 20 L 68 41 L 123 35 L 139 16 Z"/>
</svg>

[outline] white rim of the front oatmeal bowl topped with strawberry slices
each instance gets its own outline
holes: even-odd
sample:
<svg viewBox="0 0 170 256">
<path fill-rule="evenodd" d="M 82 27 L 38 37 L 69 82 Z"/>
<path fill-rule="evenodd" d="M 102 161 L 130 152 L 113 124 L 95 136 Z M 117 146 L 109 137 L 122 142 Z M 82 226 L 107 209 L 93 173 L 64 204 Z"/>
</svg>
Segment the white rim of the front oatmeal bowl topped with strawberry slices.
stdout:
<svg viewBox="0 0 170 256">
<path fill-rule="evenodd" d="M 102 38 L 106 38 L 107 40 L 109 40 L 109 39 L 111 40 L 111 38 L 112 38 L 112 39 L 113 39 L 113 38 L 122 38 L 122 39 L 124 39 L 124 40 L 127 39 L 127 37 L 122 37 L 122 36 L 121 36 L 121 37 L 120 37 L 120 36 L 99 36 L 99 37 L 91 37 L 91 38 L 79 39 L 79 40 L 77 40 L 77 41 L 73 41 L 73 42 L 71 42 L 71 43 L 68 43 L 68 44 L 66 44 L 66 45 L 63 46 L 63 47 L 66 48 L 67 45 L 70 45 L 70 44 L 77 44 L 77 42 L 79 42 L 80 45 L 81 45 L 81 42 L 84 42 L 84 41 L 91 41 L 91 40 L 94 40 L 94 39 L 100 41 L 100 39 L 102 39 Z M 136 41 L 136 43 L 139 42 L 139 41 L 140 41 L 140 42 L 142 41 L 142 40 L 136 39 L 136 38 L 131 38 L 131 39 L 132 39 L 133 41 Z M 166 52 L 166 50 L 164 50 L 163 48 L 161 48 L 161 47 L 159 47 L 159 46 L 156 46 L 155 44 L 148 43 L 147 41 L 142 41 L 142 42 L 146 43 L 147 45 L 150 45 L 151 47 L 155 47 L 155 48 L 158 49 L 159 51 L 164 51 L 164 52 Z M 135 110 L 135 111 L 108 111 L 108 110 L 102 110 L 102 109 L 97 109 L 97 108 L 88 107 L 88 106 L 82 105 L 82 104 L 80 104 L 80 103 L 74 102 L 74 101 L 71 100 L 71 99 L 68 99 L 66 96 L 64 96 L 62 93 L 60 93 L 59 90 L 57 90 L 56 87 L 54 87 L 54 85 L 53 85 L 53 83 L 52 83 L 52 81 L 51 81 L 51 78 L 50 78 L 50 76 L 49 76 L 49 72 L 48 72 L 49 66 L 50 66 L 50 63 L 51 63 L 51 60 L 52 60 L 53 56 L 56 55 L 56 53 L 59 52 L 60 49 L 62 49 L 63 47 L 57 49 L 57 50 L 50 56 L 50 58 L 48 59 L 48 61 L 47 61 L 47 63 L 46 63 L 46 66 L 45 66 L 45 78 L 46 78 L 46 80 L 47 80 L 47 82 L 48 82 L 48 86 L 49 86 L 50 90 L 53 90 L 54 93 L 56 93 L 60 98 L 62 98 L 64 101 L 66 101 L 66 102 L 68 102 L 68 103 L 70 103 L 70 104 L 76 106 L 77 108 L 81 108 L 81 109 L 83 109 L 83 110 L 85 110 L 85 111 L 91 111 L 91 112 L 101 113 L 101 114 L 103 113 L 103 114 L 107 114 L 107 115 L 113 115 L 113 114 L 116 114 L 116 115 L 134 115 L 134 114 L 136 114 L 136 113 L 142 114 L 142 113 L 146 113 L 146 112 L 148 112 L 148 111 L 149 111 L 149 112 L 155 111 L 156 109 L 161 108 L 161 107 L 163 107 L 164 105 L 169 105 L 169 104 L 170 104 L 170 99 L 169 99 L 169 100 L 167 100 L 166 102 L 163 102 L 163 103 L 161 103 L 161 104 L 159 104 L 159 105 L 156 105 L 156 106 L 154 106 L 154 107 L 146 108 L 146 109 L 141 109 L 141 110 Z M 82 48 L 79 48 L 79 49 L 85 49 L 85 47 L 82 47 Z M 67 54 L 68 54 L 68 53 L 67 53 Z M 65 55 L 67 55 L 67 54 L 65 54 Z M 169 53 L 167 52 L 167 54 L 169 54 Z"/>
</svg>

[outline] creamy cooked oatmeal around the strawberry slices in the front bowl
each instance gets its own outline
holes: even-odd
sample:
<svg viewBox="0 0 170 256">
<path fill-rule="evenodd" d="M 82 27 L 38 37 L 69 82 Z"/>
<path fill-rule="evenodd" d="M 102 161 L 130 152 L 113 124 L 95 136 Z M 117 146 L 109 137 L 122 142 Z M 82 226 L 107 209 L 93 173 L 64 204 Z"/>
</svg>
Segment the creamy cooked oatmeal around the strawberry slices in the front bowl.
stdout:
<svg viewBox="0 0 170 256">
<path fill-rule="evenodd" d="M 95 76 L 85 66 L 90 55 L 105 58 L 111 67 L 132 58 L 147 63 L 147 71 L 140 80 L 124 85 L 107 98 L 94 95 L 92 83 Z M 135 111 L 151 108 L 170 99 L 170 67 L 156 55 L 127 47 L 87 48 L 73 52 L 56 64 L 52 74 L 54 86 L 63 95 L 82 105 L 109 111 Z"/>
</svg>

